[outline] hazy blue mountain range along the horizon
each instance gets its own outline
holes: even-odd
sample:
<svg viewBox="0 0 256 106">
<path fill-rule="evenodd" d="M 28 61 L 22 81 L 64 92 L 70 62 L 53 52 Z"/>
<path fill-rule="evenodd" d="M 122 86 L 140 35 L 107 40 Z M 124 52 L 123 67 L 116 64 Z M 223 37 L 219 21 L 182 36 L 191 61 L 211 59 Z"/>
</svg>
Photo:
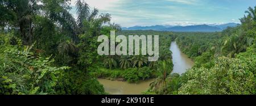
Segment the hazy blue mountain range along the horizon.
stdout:
<svg viewBox="0 0 256 106">
<path fill-rule="evenodd" d="M 226 23 L 226 24 L 201 24 L 194 26 L 134 26 L 134 27 L 122 27 L 123 30 L 154 30 L 154 31 L 174 31 L 174 32 L 220 32 L 227 27 L 236 27 L 238 23 Z"/>
</svg>

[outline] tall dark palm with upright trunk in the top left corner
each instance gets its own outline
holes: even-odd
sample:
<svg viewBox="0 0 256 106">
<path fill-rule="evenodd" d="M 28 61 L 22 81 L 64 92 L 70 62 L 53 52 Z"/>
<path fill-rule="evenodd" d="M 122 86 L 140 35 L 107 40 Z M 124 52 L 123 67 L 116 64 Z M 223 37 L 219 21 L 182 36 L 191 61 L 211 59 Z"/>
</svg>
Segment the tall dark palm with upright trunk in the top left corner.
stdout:
<svg viewBox="0 0 256 106">
<path fill-rule="evenodd" d="M 32 20 L 38 11 L 39 0 L 19 0 L 19 1 L 1 1 L 6 8 L 11 11 L 15 27 L 19 28 L 23 43 L 32 44 Z"/>
</svg>

